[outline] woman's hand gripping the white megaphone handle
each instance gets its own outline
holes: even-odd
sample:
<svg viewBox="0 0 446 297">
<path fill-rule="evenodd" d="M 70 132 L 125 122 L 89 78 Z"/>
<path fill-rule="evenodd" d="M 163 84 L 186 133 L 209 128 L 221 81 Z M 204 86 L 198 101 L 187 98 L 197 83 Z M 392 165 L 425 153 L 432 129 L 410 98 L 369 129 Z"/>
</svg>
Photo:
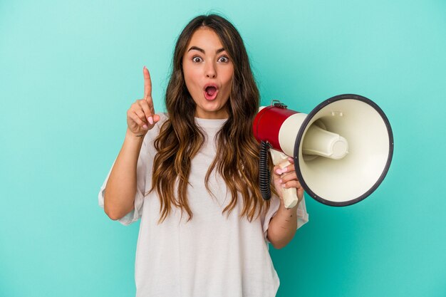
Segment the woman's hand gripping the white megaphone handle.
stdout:
<svg viewBox="0 0 446 297">
<path fill-rule="evenodd" d="M 276 191 L 279 194 L 280 199 L 282 199 L 281 203 L 283 203 L 282 189 L 288 189 L 291 187 L 296 188 L 297 199 L 299 199 L 299 202 L 301 202 L 302 198 L 304 197 L 304 188 L 302 188 L 299 179 L 297 179 L 293 158 L 289 157 L 288 160 L 291 164 L 284 167 L 283 169 L 279 165 L 274 166 L 274 187 L 276 187 Z"/>
</svg>

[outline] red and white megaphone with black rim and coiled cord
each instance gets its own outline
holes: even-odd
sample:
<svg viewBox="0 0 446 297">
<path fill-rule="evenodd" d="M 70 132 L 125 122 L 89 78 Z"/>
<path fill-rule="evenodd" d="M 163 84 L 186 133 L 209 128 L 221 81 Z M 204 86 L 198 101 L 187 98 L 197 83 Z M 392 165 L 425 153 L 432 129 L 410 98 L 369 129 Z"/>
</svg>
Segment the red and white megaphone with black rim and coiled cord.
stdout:
<svg viewBox="0 0 446 297">
<path fill-rule="evenodd" d="M 254 118 L 261 143 L 260 187 L 271 197 L 268 152 L 274 165 L 293 157 L 305 192 L 323 204 L 343 207 L 368 197 L 383 182 L 393 156 L 393 133 L 383 110 L 361 95 L 337 95 L 308 115 L 274 100 Z M 284 190 L 284 205 L 296 206 L 296 189 Z"/>
</svg>

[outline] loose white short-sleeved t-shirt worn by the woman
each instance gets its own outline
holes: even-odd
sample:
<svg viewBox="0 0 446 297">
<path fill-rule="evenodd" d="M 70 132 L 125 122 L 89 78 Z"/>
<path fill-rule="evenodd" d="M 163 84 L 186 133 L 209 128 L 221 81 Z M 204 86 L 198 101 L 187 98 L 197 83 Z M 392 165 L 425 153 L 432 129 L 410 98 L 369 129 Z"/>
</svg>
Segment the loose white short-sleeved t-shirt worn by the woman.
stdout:
<svg viewBox="0 0 446 297">
<path fill-rule="evenodd" d="M 152 165 L 156 150 L 153 140 L 159 133 L 160 122 L 145 135 L 137 167 L 135 209 L 119 221 L 128 225 L 138 219 L 140 232 L 135 260 L 137 297 L 272 297 L 279 288 L 279 277 L 268 251 L 266 231 L 269 220 L 279 209 L 279 198 L 271 197 L 266 215 L 249 222 L 239 218 L 243 209 L 242 197 L 229 217 L 222 210 L 231 200 L 224 180 L 212 172 L 207 192 L 204 177 L 215 157 L 214 136 L 225 120 L 196 118 L 206 140 L 191 161 L 187 198 L 192 220 L 187 212 L 181 217 L 180 209 L 161 224 L 160 200 L 156 191 L 147 194 L 152 186 Z M 111 170 L 110 170 L 111 172 Z M 108 176 L 110 173 L 108 174 Z M 99 193 L 103 194 L 107 179 Z M 297 209 L 299 228 L 308 222 L 305 201 Z"/>
</svg>

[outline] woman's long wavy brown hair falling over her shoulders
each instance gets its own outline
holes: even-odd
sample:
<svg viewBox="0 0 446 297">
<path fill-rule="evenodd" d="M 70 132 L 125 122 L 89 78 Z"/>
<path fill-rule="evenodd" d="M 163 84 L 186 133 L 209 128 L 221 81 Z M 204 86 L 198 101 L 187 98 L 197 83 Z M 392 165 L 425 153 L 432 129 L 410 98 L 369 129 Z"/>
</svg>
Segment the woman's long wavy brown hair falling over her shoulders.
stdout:
<svg viewBox="0 0 446 297">
<path fill-rule="evenodd" d="M 257 211 L 260 214 L 269 208 L 269 201 L 264 201 L 259 192 L 259 144 L 252 132 L 252 123 L 259 110 L 259 90 L 239 32 L 222 16 L 210 14 L 192 19 L 180 33 L 175 46 L 172 73 L 165 95 L 168 119 L 155 139 L 157 155 L 150 189 L 150 192 L 156 189 L 160 197 L 159 223 L 170 214 L 172 205 L 180 207 L 182 213 L 187 212 L 187 221 L 193 217 L 187 202 L 188 178 L 191 160 L 202 147 L 204 135 L 195 123 L 196 105 L 186 87 L 182 58 L 192 34 L 203 27 L 217 33 L 234 65 L 231 92 L 226 104 L 229 117 L 216 135 L 217 155 L 204 180 L 206 189 L 212 194 L 208 182 L 212 171 L 217 169 L 232 196 L 222 214 L 232 212 L 239 193 L 243 199 L 240 217 L 246 215 L 249 222 Z"/>
</svg>

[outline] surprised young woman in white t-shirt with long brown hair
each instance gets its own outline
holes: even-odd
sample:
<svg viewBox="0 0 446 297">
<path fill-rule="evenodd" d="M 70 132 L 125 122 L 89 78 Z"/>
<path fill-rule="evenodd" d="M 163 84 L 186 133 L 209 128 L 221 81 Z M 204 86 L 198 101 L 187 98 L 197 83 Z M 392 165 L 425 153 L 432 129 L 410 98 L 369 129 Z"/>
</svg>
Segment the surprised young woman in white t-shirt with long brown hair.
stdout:
<svg viewBox="0 0 446 297">
<path fill-rule="evenodd" d="M 237 29 L 217 15 L 187 24 L 166 114 L 155 113 L 147 68 L 143 75 L 144 98 L 127 112 L 123 147 L 99 193 L 111 219 L 141 219 L 137 296 L 275 296 L 268 242 L 286 246 L 308 214 L 293 164 L 274 167 L 279 197 L 261 198 L 252 134 L 259 91 Z M 282 187 L 297 188 L 293 209 Z"/>
</svg>

